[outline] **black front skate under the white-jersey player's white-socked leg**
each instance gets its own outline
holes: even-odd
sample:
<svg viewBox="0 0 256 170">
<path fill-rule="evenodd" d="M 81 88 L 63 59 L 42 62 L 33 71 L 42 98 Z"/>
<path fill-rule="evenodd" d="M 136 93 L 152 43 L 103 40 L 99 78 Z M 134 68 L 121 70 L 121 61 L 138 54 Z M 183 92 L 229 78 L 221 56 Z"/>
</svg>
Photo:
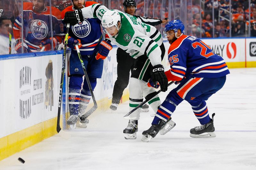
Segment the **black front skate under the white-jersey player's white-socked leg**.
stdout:
<svg viewBox="0 0 256 170">
<path fill-rule="evenodd" d="M 124 129 L 124 138 L 127 140 L 136 139 L 138 131 L 138 120 L 129 120 L 127 127 Z"/>
</svg>

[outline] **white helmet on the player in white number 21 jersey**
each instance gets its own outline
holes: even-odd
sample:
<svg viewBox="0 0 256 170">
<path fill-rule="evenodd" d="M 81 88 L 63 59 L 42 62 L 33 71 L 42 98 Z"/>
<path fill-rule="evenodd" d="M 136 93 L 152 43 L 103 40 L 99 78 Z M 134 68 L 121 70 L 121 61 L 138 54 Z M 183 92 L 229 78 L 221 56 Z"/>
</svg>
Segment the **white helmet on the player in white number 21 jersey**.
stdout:
<svg viewBox="0 0 256 170">
<path fill-rule="evenodd" d="M 116 26 L 116 29 L 118 30 L 118 21 L 121 22 L 121 16 L 120 14 L 115 10 L 109 10 L 106 11 L 101 20 L 102 29 L 105 32 L 104 28 L 110 28 L 112 26 Z"/>
</svg>

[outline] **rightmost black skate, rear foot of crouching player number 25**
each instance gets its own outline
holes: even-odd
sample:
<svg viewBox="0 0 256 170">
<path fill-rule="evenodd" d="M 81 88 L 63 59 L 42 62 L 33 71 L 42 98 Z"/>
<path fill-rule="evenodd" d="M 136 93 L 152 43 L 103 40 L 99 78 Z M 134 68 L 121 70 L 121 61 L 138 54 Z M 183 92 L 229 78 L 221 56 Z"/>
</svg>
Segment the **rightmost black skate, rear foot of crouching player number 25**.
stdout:
<svg viewBox="0 0 256 170">
<path fill-rule="evenodd" d="M 214 115 L 215 113 L 212 114 L 212 119 L 209 123 L 190 129 L 190 137 L 216 137 L 214 133 L 215 128 L 213 126 Z"/>
</svg>

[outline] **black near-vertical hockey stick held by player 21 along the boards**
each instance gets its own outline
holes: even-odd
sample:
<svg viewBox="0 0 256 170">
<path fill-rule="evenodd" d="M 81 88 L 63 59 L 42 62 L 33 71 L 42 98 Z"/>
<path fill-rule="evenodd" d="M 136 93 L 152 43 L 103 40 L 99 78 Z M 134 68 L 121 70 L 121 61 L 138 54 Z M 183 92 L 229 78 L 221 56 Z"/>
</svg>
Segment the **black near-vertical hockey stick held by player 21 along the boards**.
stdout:
<svg viewBox="0 0 256 170">
<path fill-rule="evenodd" d="M 63 81 L 64 81 L 64 73 L 65 73 L 65 65 L 66 65 L 66 54 L 67 54 L 67 44 L 68 44 L 68 30 L 69 30 L 69 23 L 67 24 L 65 44 L 64 44 L 64 52 L 63 52 L 63 59 L 62 59 L 62 70 L 61 70 L 61 79 L 60 79 L 59 108 L 58 108 L 58 116 L 57 116 L 57 132 L 58 133 L 61 130 L 61 128 L 60 128 L 60 108 L 61 108 L 61 101 L 62 101 Z"/>
</svg>

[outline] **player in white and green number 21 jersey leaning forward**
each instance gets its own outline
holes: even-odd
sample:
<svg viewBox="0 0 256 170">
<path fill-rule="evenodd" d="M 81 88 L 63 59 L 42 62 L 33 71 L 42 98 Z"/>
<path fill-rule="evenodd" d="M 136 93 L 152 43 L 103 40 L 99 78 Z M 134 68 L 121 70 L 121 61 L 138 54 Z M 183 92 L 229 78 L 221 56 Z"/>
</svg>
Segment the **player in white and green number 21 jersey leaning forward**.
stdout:
<svg viewBox="0 0 256 170">
<path fill-rule="evenodd" d="M 97 17 L 101 20 L 102 29 L 109 35 L 112 43 L 123 49 L 133 58 L 138 58 L 132 69 L 129 85 L 130 110 L 143 101 L 143 88 L 152 78 L 154 85 L 159 82 L 161 90 L 167 90 L 167 78 L 161 61 L 164 58 L 164 44 L 161 33 L 154 27 L 143 23 L 140 19 L 118 10 L 108 10 L 102 4 L 93 4 L 81 10 L 67 12 L 64 22 L 75 25 L 83 18 Z M 153 98 L 152 100 L 156 100 Z M 156 108 L 157 109 L 157 108 Z M 130 115 L 124 129 L 126 139 L 136 139 L 140 108 Z"/>
</svg>

